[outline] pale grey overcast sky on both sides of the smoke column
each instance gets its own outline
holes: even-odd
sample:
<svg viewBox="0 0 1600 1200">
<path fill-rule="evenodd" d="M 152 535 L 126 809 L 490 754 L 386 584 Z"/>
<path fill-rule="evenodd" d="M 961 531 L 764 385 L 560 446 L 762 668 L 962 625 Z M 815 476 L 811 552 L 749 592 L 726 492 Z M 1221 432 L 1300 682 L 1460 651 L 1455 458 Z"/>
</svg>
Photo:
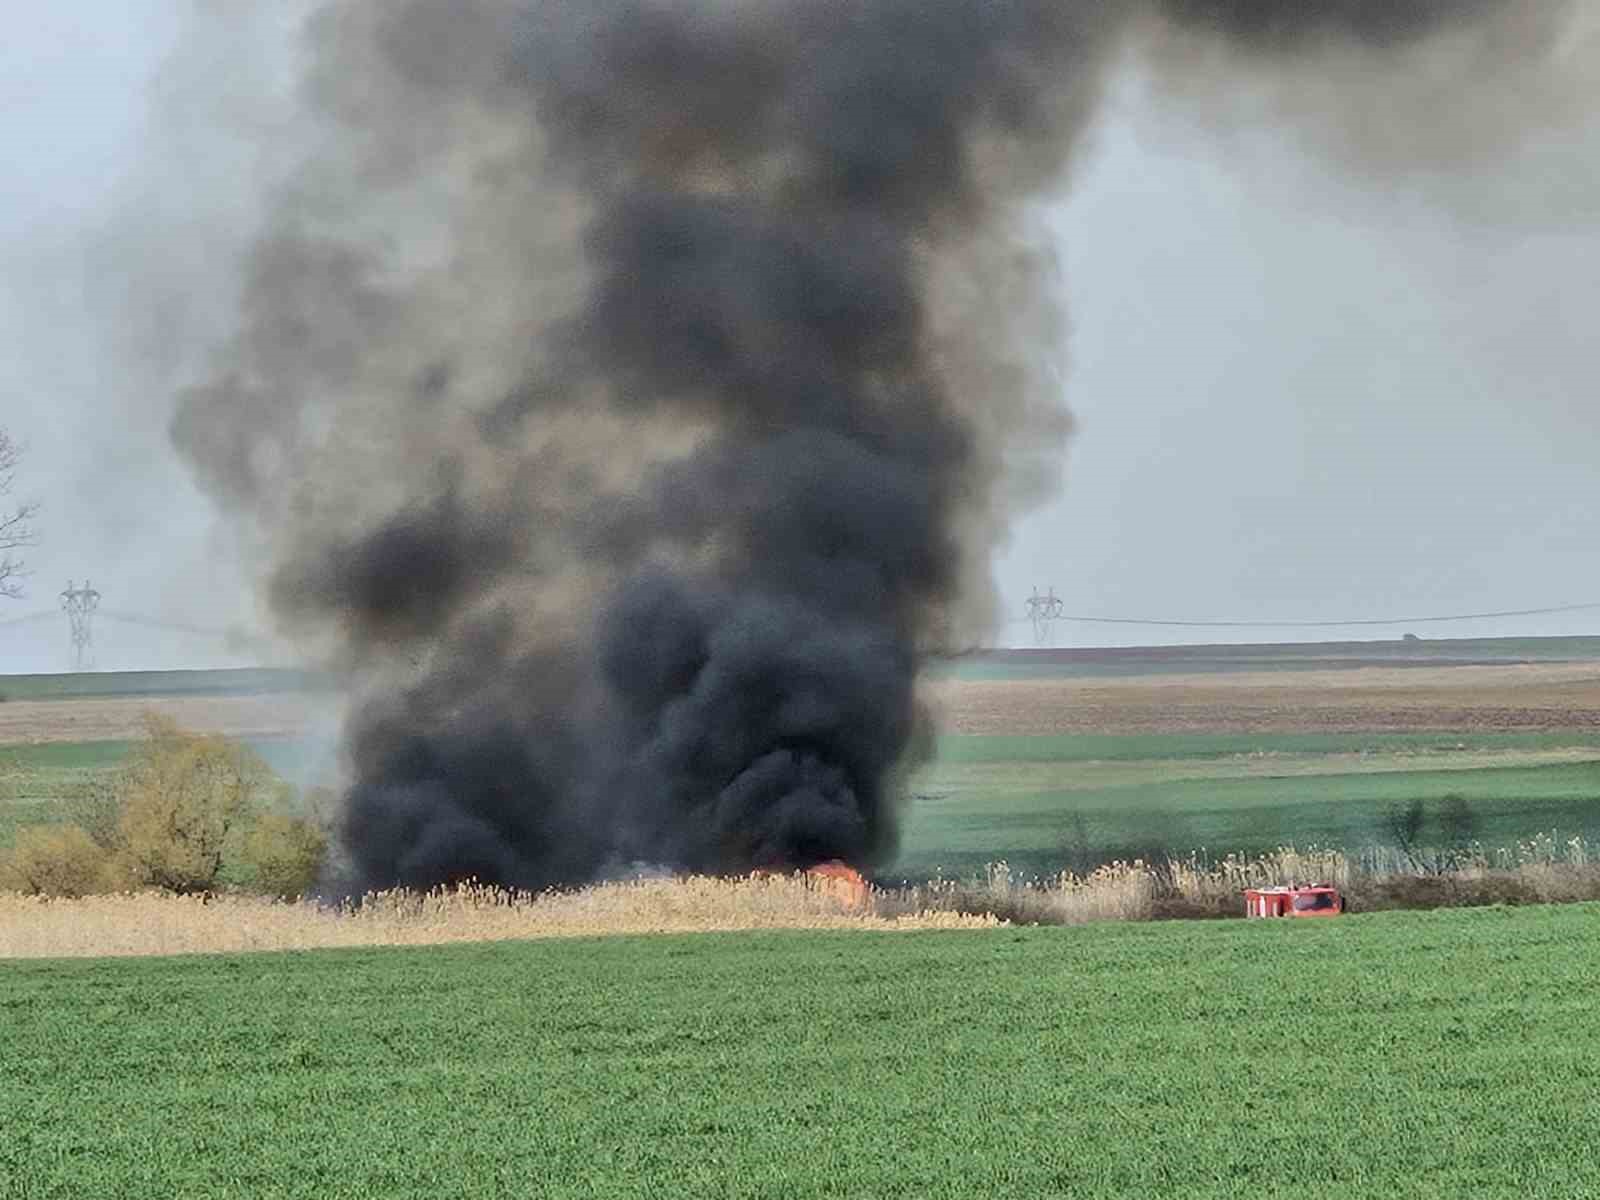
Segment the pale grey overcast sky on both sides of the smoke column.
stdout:
<svg viewBox="0 0 1600 1200">
<path fill-rule="evenodd" d="M 176 29 L 171 3 L 85 0 L 34 6 L 0 45 L 0 424 L 29 448 L 18 498 L 43 506 L 29 595 L 0 602 L 0 674 L 67 666 L 64 619 L 14 619 L 86 574 L 109 611 L 256 619 L 165 405 L 222 320 L 262 149 L 182 120 L 216 101 L 163 70 Z M 1078 434 L 1059 498 L 997 555 L 1011 613 L 1035 586 L 1072 613 L 1234 621 L 1600 600 L 1592 131 L 1381 173 L 1294 128 L 1219 128 L 1130 66 L 1048 210 Z M 141 259 L 128 230 L 150 221 L 192 226 L 187 253 Z M 1418 632 L 1590 634 L 1600 610 Z M 1054 640 L 1310 637 L 1064 624 Z M 259 658 L 117 622 L 96 640 L 107 669 Z"/>
</svg>

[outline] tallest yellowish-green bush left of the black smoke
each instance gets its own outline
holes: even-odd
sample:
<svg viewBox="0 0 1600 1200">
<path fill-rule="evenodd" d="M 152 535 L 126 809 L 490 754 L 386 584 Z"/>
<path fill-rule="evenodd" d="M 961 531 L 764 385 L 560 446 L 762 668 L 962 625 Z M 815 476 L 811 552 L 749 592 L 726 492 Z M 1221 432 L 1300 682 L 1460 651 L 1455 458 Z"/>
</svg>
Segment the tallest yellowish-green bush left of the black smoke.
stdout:
<svg viewBox="0 0 1600 1200">
<path fill-rule="evenodd" d="M 120 854 L 136 885 L 210 891 L 224 858 L 283 784 L 248 746 L 147 717 L 118 782 Z"/>
</svg>

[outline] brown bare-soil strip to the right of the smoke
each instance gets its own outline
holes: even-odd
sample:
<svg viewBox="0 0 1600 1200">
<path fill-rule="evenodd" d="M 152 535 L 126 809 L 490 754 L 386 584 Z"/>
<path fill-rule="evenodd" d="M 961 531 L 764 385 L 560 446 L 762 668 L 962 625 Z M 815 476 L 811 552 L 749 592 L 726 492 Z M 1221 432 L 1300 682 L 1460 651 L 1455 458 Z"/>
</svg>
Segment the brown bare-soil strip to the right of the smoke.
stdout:
<svg viewBox="0 0 1600 1200">
<path fill-rule="evenodd" d="M 1600 664 L 941 680 L 949 733 L 1408 733 L 1600 726 Z"/>
</svg>

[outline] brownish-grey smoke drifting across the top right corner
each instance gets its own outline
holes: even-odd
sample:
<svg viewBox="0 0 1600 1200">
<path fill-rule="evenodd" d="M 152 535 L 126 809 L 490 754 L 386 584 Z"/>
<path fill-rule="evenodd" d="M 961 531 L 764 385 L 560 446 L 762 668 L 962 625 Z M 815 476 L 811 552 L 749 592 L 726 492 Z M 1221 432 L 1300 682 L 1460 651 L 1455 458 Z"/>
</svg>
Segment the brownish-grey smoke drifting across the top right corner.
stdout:
<svg viewBox="0 0 1600 1200">
<path fill-rule="evenodd" d="M 1589 118 L 1594 14 L 1573 0 L 1152 0 L 1150 86 L 1189 128 L 1272 130 L 1357 176 L 1483 203 L 1506 170 Z M 1517 211 L 1526 222 L 1528 216 Z"/>
</svg>

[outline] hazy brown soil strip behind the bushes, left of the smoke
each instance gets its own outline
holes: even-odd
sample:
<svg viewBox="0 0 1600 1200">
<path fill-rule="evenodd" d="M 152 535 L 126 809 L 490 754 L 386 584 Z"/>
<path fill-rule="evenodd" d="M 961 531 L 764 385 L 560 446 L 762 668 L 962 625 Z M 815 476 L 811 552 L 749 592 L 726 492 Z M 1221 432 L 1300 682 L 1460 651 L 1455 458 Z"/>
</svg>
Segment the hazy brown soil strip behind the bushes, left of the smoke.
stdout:
<svg viewBox="0 0 1600 1200">
<path fill-rule="evenodd" d="M 115 699 L 6 701 L 0 746 L 125 741 L 144 736 L 144 714 L 186 730 L 230 738 L 293 738 L 328 728 L 338 707 L 326 694 L 118 696 Z"/>
</svg>

